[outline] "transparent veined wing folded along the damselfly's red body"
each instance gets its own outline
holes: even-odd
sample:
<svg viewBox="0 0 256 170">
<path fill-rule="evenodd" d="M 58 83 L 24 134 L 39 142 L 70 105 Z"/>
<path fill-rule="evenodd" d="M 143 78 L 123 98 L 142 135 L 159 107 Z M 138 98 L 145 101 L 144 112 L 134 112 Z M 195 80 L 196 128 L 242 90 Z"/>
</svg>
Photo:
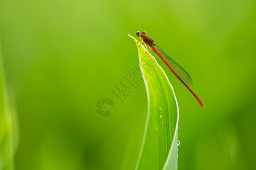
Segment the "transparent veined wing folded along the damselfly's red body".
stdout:
<svg viewBox="0 0 256 170">
<path fill-rule="evenodd" d="M 184 80 L 189 86 L 192 86 L 191 76 L 185 71 L 178 63 L 174 61 L 171 57 L 169 57 L 158 45 L 155 44 L 155 48 L 158 52 L 163 56 L 164 59 L 168 62 L 168 64 L 174 69 L 174 71 L 180 76 L 181 79 Z"/>
</svg>

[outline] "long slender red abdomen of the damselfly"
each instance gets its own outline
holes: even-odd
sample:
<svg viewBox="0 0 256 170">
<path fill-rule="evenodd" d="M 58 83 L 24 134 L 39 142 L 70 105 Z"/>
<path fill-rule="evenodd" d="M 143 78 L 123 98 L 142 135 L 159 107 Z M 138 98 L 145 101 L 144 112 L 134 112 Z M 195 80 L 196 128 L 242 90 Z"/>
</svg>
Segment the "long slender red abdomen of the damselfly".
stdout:
<svg viewBox="0 0 256 170">
<path fill-rule="evenodd" d="M 176 77 L 185 85 L 185 87 L 187 87 L 187 89 L 192 93 L 192 95 L 196 97 L 196 100 L 199 102 L 201 107 L 204 108 L 203 101 L 195 94 L 195 92 L 192 91 L 192 89 L 184 82 L 184 80 L 180 78 L 180 76 L 174 71 L 174 69 L 172 69 L 172 67 L 168 64 L 166 59 L 164 59 L 162 57 L 162 55 L 158 52 L 158 50 L 156 50 L 154 48 L 154 46 L 151 47 L 151 49 L 162 59 L 162 61 L 169 67 L 169 69 L 172 71 L 172 73 L 174 73 L 176 75 Z"/>
</svg>

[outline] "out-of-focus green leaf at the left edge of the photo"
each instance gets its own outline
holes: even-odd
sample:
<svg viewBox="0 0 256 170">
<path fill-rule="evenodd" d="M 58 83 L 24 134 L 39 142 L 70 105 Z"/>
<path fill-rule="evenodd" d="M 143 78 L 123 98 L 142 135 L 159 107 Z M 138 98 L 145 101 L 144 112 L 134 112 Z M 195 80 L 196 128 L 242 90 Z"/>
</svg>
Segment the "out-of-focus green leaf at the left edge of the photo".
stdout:
<svg viewBox="0 0 256 170">
<path fill-rule="evenodd" d="M 18 131 L 14 105 L 10 105 L 7 93 L 0 44 L 0 170 L 14 169 L 14 152 L 19 141 Z"/>
</svg>

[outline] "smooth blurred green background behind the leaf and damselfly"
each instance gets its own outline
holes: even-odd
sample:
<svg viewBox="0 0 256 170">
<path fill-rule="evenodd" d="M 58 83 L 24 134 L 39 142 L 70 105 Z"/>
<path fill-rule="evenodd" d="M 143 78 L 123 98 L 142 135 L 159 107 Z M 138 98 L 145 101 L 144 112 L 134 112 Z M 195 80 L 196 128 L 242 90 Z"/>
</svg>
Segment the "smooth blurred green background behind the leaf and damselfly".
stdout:
<svg viewBox="0 0 256 170">
<path fill-rule="evenodd" d="M 191 74 L 166 67 L 179 103 L 179 169 L 256 168 L 256 1 L 0 1 L 6 81 L 19 117 L 15 169 L 134 169 L 147 116 L 144 84 L 110 89 L 139 67 L 147 31 Z M 101 118 L 97 101 L 115 111 Z"/>
</svg>

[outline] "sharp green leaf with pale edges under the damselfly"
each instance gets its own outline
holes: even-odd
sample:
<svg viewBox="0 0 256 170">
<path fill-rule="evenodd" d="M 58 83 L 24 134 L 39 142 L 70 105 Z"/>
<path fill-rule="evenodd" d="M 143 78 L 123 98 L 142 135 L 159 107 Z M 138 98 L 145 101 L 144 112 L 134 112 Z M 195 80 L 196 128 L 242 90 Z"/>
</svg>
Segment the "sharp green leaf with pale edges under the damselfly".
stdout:
<svg viewBox="0 0 256 170">
<path fill-rule="evenodd" d="M 148 98 L 146 128 L 136 169 L 176 170 L 179 108 L 174 89 L 156 59 L 130 37 L 138 47 Z"/>
</svg>

